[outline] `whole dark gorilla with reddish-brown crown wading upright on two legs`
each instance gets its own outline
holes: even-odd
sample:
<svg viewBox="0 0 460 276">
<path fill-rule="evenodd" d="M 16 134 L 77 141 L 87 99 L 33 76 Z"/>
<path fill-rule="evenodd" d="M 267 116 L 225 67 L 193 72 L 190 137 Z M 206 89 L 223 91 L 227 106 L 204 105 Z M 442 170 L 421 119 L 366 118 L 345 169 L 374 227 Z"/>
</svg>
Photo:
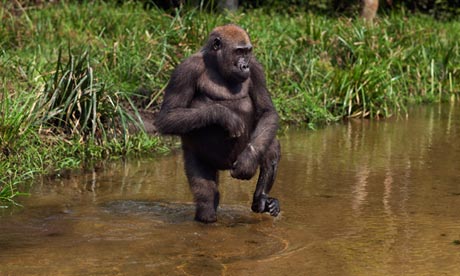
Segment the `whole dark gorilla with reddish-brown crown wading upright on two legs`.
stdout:
<svg viewBox="0 0 460 276">
<path fill-rule="evenodd" d="M 268 196 L 280 159 L 278 115 L 251 51 L 240 27 L 215 28 L 203 49 L 174 70 L 156 120 L 162 134 L 182 138 L 195 219 L 201 222 L 217 219 L 218 170 L 247 180 L 260 165 L 252 210 L 280 212 L 278 200 Z"/>
</svg>

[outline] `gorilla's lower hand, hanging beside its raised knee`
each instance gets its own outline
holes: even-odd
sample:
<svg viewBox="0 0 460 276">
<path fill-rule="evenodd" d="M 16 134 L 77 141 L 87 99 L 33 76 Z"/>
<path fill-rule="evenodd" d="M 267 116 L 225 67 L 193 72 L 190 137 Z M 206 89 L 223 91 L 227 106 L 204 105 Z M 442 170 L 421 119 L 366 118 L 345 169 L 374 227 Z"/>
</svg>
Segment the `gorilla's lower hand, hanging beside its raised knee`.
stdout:
<svg viewBox="0 0 460 276">
<path fill-rule="evenodd" d="M 256 173 L 258 165 L 257 152 L 251 144 L 248 144 L 246 149 L 238 156 L 235 163 L 233 163 L 231 175 L 233 178 L 249 180 Z"/>
</svg>

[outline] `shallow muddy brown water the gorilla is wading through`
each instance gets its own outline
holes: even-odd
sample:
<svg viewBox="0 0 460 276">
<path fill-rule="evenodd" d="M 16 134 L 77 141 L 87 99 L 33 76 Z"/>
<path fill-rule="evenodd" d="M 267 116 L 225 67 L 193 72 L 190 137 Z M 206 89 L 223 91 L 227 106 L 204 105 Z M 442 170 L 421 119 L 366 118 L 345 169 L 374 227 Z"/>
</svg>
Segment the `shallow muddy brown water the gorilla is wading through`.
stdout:
<svg viewBox="0 0 460 276">
<path fill-rule="evenodd" d="M 180 154 L 36 183 L 0 217 L 0 275 L 460 275 L 459 107 L 281 142 L 276 219 L 224 173 L 195 223 Z"/>
</svg>

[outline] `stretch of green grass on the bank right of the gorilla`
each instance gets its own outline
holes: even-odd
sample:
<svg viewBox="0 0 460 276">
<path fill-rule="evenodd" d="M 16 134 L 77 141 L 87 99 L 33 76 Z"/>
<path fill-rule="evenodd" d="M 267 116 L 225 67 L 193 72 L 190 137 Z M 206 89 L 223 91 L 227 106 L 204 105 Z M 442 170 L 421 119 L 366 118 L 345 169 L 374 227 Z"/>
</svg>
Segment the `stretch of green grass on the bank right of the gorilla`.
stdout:
<svg viewBox="0 0 460 276">
<path fill-rule="evenodd" d="M 262 40 L 259 56 L 285 121 L 388 117 L 411 102 L 458 98 L 457 22 L 391 15 L 369 25 L 299 13 L 253 23 L 245 24 Z"/>
</svg>

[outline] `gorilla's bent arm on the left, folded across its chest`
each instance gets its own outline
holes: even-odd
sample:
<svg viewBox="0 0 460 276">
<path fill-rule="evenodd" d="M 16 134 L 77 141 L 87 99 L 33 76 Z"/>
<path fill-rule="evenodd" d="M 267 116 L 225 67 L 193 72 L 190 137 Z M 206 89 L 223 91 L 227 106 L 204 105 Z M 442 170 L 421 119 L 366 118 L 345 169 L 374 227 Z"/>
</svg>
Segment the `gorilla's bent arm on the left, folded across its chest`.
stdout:
<svg viewBox="0 0 460 276">
<path fill-rule="evenodd" d="M 220 104 L 189 107 L 195 95 L 196 80 L 203 70 L 202 59 L 197 56 L 187 59 L 174 70 L 156 118 L 160 133 L 183 135 L 210 124 L 222 125 L 234 137 L 243 133 L 243 122 L 227 107 Z"/>
</svg>

